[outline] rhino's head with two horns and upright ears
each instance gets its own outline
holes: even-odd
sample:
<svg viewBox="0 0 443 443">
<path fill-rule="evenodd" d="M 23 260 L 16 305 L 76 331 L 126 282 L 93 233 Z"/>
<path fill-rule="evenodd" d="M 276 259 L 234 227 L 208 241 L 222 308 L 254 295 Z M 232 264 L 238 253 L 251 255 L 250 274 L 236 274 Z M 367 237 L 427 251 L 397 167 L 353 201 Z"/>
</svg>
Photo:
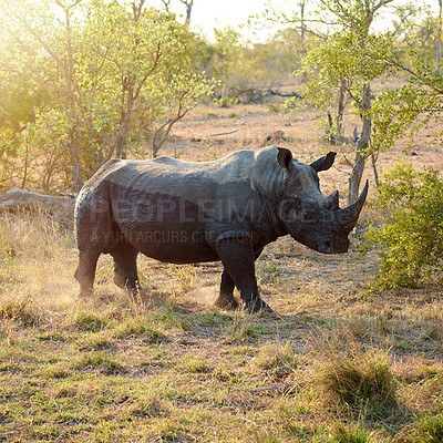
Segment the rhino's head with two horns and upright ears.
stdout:
<svg viewBox="0 0 443 443">
<path fill-rule="evenodd" d="M 348 235 L 357 224 L 368 195 L 368 182 L 358 200 L 346 208 L 339 206 L 339 193 L 324 196 L 318 173 L 329 169 L 336 153 L 310 165 L 292 158 L 289 150 L 278 148 L 284 186 L 279 199 L 279 218 L 291 237 L 323 254 L 343 254 L 349 248 Z"/>
</svg>

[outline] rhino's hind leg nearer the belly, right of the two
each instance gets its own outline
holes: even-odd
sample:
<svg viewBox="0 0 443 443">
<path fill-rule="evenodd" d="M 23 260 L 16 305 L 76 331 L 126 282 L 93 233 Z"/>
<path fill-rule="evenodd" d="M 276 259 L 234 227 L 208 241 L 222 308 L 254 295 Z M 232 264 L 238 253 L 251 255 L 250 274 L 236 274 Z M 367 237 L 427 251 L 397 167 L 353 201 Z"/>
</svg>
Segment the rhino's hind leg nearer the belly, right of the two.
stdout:
<svg viewBox="0 0 443 443">
<path fill-rule="evenodd" d="M 120 244 L 111 253 L 114 259 L 114 284 L 132 292 L 138 289 L 137 254 L 128 243 Z"/>
</svg>

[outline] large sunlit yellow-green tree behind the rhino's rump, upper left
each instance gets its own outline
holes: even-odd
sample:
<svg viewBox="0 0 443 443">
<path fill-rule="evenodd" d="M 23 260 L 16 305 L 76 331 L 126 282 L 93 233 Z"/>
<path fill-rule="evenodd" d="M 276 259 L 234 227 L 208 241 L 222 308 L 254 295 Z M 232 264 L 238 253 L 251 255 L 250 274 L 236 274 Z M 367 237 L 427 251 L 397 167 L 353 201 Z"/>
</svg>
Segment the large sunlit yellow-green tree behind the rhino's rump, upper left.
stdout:
<svg viewBox="0 0 443 443">
<path fill-rule="evenodd" d="M 144 0 L 0 4 L 8 17 L 0 31 L 17 48 L 1 71 L 21 72 L 50 96 L 27 125 L 27 137 L 45 159 L 62 161 L 75 189 L 109 158 L 125 157 L 131 142 L 158 128 L 167 135 L 212 91 L 194 70 L 188 28 L 143 6 Z M 143 122 L 143 131 L 135 122 Z M 154 154 L 164 140 L 156 138 Z"/>
</svg>

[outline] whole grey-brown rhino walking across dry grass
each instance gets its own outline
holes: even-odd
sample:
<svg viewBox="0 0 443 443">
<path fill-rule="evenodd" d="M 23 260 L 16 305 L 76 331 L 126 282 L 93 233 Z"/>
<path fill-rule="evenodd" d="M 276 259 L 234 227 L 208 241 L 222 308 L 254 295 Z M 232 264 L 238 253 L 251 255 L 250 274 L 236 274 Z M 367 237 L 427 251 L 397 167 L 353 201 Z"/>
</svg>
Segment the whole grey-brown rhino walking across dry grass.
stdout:
<svg viewBox="0 0 443 443">
<path fill-rule="evenodd" d="M 318 173 L 336 153 L 311 164 L 289 150 L 237 151 L 214 162 L 172 157 L 112 159 L 83 186 L 75 203 L 80 295 L 93 290 L 99 256 L 110 254 L 114 282 L 138 290 L 137 255 L 173 264 L 222 261 L 216 306 L 238 308 L 237 287 L 248 312 L 269 309 L 255 277 L 264 247 L 290 235 L 323 254 L 342 254 L 363 207 L 339 207 L 339 193 L 324 196 Z"/>
</svg>

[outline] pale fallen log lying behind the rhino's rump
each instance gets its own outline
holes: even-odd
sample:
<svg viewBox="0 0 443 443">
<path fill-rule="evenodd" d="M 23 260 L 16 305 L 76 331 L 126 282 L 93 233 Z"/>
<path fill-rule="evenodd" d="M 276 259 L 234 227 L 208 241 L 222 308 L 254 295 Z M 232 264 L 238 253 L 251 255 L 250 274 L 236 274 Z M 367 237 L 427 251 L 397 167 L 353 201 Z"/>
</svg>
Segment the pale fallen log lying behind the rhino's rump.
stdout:
<svg viewBox="0 0 443 443">
<path fill-rule="evenodd" d="M 72 219 L 74 214 L 75 198 L 73 195 L 59 197 L 44 195 L 18 187 L 0 194 L 0 210 L 41 210 L 51 214 L 56 218 Z"/>
</svg>

